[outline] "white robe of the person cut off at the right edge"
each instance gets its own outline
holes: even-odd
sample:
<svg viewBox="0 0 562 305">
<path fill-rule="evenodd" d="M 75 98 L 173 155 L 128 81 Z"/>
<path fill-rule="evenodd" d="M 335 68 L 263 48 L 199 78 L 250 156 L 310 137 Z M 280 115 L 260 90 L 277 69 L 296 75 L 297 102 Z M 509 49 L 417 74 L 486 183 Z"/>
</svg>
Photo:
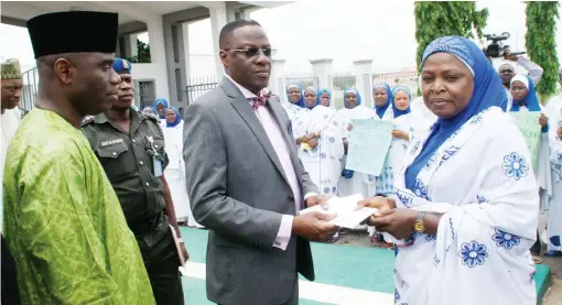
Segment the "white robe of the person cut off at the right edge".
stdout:
<svg viewBox="0 0 562 305">
<path fill-rule="evenodd" d="M 562 127 L 562 95 L 547 105 L 549 116 L 550 166 L 552 171 L 552 196 L 547 211 L 548 250 L 562 251 L 562 139 L 558 129 Z"/>
</svg>

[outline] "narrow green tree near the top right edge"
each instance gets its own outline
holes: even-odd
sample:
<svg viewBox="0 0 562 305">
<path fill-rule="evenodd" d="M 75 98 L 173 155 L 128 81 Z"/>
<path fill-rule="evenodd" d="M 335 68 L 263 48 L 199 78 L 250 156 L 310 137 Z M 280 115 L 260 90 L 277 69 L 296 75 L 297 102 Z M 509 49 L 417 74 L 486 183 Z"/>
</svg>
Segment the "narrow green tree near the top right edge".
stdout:
<svg viewBox="0 0 562 305">
<path fill-rule="evenodd" d="M 556 19 L 560 3 L 558 1 L 527 2 L 527 34 L 525 46 L 531 61 L 544 69 L 542 79 L 537 85 L 541 101 L 545 101 L 556 90 L 559 61 L 556 56 Z"/>
</svg>

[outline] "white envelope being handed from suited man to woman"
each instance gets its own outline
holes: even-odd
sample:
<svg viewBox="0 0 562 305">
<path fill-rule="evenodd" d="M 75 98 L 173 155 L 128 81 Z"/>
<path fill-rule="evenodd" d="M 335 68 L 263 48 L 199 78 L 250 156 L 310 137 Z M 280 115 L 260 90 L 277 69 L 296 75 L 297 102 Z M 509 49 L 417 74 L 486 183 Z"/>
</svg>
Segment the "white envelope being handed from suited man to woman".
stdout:
<svg viewBox="0 0 562 305">
<path fill-rule="evenodd" d="M 306 209 L 301 210 L 301 214 L 306 214 L 311 211 L 320 211 L 324 214 L 335 214 L 336 218 L 329 220 L 329 224 L 333 224 L 341 228 L 353 229 L 356 228 L 363 220 L 369 218 L 378 209 L 364 207 L 359 210 L 355 210 L 357 208 L 357 203 L 363 200 L 363 195 L 352 195 L 347 197 L 332 197 L 327 200 L 328 209 L 323 209 L 320 205 L 313 206 Z"/>
</svg>

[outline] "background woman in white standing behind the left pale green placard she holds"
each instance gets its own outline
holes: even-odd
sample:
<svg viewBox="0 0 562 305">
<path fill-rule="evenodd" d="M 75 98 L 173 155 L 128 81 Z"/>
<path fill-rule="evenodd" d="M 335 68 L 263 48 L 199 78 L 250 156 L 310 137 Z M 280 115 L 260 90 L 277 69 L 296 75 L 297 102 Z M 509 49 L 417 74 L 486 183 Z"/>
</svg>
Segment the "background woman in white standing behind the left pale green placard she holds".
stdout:
<svg viewBox="0 0 562 305">
<path fill-rule="evenodd" d="M 361 105 L 361 96 L 355 88 L 344 90 L 344 108 L 339 109 L 332 120 L 333 128 L 338 130 L 338 134 L 347 151 L 349 132 L 352 130 L 352 120 L 363 120 L 372 118 L 372 111 Z M 345 170 L 346 156 L 342 159 L 342 177 L 339 177 L 338 196 L 349 196 L 361 194 L 363 181 L 365 174 L 355 173 Z"/>
</svg>

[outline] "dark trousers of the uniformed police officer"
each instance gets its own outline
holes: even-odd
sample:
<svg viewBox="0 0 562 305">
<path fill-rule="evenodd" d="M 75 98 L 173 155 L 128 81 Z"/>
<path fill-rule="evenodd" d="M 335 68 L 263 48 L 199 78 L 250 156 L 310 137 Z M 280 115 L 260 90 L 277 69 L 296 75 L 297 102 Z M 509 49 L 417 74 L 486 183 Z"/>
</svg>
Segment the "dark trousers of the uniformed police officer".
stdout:
<svg viewBox="0 0 562 305">
<path fill-rule="evenodd" d="M 148 247 L 142 239 L 137 239 L 156 305 L 184 305 L 182 275 L 177 250 L 170 232 L 156 244 Z"/>
</svg>

